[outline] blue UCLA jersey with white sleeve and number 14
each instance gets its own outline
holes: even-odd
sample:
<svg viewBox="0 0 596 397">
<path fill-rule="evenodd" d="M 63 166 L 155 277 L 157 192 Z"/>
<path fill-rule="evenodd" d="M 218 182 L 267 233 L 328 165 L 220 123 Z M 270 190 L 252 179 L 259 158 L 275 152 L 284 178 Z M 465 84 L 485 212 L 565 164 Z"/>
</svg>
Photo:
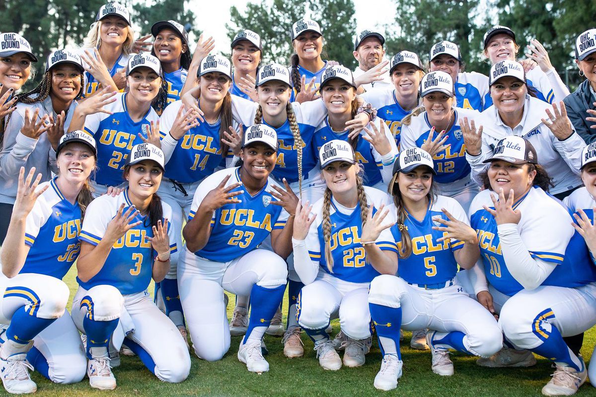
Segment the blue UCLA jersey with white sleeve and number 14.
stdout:
<svg viewBox="0 0 596 397">
<path fill-rule="evenodd" d="M 160 118 L 162 149 L 166 156 L 165 176 L 178 182 L 193 183 L 213 174 L 215 168 L 225 160 L 222 159 L 222 143 L 219 139 L 221 121 L 214 124 L 200 123 L 176 141 L 168 132 L 175 123 L 181 106 L 182 101 L 173 102 Z M 229 157 L 233 157 L 231 152 Z"/>
</svg>

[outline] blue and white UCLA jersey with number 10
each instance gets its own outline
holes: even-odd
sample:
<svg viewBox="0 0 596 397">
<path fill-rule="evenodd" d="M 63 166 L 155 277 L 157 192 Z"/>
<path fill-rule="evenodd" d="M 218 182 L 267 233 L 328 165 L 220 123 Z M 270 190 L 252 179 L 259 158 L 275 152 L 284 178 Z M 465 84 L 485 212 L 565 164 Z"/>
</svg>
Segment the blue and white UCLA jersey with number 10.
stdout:
<svg viewBox="0 0 596 397">
<path fill-rule="evenodd" d="M 470 206 L 471 227 L 476 230 L 488 282 L 499 292 L 513 296 L 523 286 L 511 275 L 502 254 L 495 218 L 483 208 L 494 209 L 492 190 L 478 193 Z M 535 186 L 513 207 L 522 214 L 517 230 L 532 258 L 557 265 L 542 285 L 578 287 L 596 280 L 583 237 L 571 226 L 569 210 Z"/>
</svg>

